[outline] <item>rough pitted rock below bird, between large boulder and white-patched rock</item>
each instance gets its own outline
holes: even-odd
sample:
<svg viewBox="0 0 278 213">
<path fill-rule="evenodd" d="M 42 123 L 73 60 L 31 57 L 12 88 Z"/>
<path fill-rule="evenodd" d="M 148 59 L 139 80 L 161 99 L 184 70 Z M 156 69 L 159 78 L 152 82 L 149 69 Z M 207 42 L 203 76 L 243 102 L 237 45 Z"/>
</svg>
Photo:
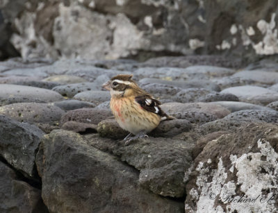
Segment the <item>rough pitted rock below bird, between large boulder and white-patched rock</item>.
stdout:
<svg viewBox="0 0 278 213">
<path fill-rule="evenodd" d="M 181 198 L 184 196 L 184 173 L 192 163 L 193 144 L 163 137 L 138 139 L 129 146 L 113 147 L 113 153 L 140 170 L 140 185 L 155 194 Z"/>
</svg>

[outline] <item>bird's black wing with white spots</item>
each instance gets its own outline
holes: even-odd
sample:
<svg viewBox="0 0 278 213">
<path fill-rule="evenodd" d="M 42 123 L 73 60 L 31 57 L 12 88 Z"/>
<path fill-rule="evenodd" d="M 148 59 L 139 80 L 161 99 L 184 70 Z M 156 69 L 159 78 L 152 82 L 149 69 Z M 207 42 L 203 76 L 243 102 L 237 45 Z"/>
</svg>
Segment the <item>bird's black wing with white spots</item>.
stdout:
<svg viewBox="0 0 278 213">
<path fill-rule="evenodd" d="M 159 106 L 161 105 L 161 102 L 152 98 L 152 96 L 136 96 L 135 100 L 141 105 L 144 110 L 154 112 L 155 114 L 158 114 L 161 117 L 166 117 L 165 119 L 167 119 L 167 114 L 165 114 L 165 112 L 163 112 L 163 110 L 161 110 Z"/>
</svg>

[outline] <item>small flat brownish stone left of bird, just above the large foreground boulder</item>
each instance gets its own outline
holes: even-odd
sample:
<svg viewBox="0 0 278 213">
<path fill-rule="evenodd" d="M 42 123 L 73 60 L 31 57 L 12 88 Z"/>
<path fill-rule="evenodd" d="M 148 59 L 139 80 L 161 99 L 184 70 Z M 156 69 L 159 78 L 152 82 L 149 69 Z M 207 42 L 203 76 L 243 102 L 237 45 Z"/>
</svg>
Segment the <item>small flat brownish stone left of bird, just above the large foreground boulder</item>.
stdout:
<svg viewBox="0 0 278 213">
<path fill-rule="evenodd" d="M 80 123 L 76 121 L 65 122 L 61 129 L 69 130 L 74 133 L 79 133 L 81 135 L 88 133 L 97 133 L 97 125 L 90 123 Z"/>
</svg>

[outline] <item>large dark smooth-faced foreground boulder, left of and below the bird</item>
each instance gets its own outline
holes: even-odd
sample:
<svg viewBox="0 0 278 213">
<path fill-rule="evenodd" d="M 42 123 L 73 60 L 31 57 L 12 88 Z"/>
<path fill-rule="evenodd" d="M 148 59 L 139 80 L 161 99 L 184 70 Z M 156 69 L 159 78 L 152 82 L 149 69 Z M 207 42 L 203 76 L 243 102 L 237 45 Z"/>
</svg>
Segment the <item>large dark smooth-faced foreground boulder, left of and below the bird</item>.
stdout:
<svg viewBox="0 0 278 213">
<path fill-rule="evenodd" d="M 90 146 L 76 133 L 54 130 L 44 137 L 36 164 L 42 177 L 42 199 L 49 212 L 184 210 L 183 203 L 141 187 L 136 169 Z"/>
</svg>

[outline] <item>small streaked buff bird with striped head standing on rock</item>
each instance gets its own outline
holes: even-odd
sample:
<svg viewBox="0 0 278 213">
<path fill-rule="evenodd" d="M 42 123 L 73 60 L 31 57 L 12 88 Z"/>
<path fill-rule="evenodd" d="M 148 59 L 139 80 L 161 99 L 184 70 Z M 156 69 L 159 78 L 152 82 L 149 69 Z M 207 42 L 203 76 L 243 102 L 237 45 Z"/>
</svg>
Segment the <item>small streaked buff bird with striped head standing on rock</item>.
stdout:
<svg viewBox="0 0 278 213">
<path fill-rule="evenodd" d="M 147 133 L 161 121 L 174 119 L 163 112 L 159 106 L 161 102 L 142 90 L 132 77 L 119 74 L 102 85 L 111 93 L 110 108 L 117 123 L 129 132 L 124 138 L 126 144 L 134 139 L 148 137 Z"/>
</svg>

